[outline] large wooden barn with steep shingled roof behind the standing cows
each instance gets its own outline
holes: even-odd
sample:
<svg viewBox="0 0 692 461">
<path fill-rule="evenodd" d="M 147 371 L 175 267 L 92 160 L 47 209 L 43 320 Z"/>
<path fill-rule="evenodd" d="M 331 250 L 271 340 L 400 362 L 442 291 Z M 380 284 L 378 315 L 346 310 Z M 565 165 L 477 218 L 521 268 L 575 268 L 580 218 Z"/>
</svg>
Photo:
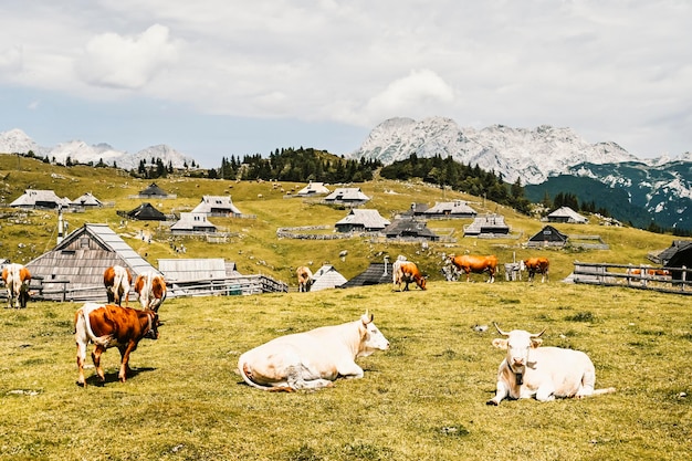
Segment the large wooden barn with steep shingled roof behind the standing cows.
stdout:
<svg viewBox="0 0 692 461">
<path fill-rule="evenodd" d="M 115 264 L 127 268 L 133 279 L 146 271 L 158 272 L 108 224 L 88 223 L 25 265 L 41 281 L 46 300 L 105 302 L 103 273 Z"/>
</svg>

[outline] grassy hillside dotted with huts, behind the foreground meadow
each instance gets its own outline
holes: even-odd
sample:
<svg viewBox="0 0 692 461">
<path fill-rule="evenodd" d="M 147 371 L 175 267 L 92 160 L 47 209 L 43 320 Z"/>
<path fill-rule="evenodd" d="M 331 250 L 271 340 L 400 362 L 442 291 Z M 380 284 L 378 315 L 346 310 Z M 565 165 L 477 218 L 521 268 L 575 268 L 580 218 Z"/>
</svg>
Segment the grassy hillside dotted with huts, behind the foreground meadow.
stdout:
<svg viewBox="0 0 692 461">
<path fill-rule="evenodd" d="M 670 247 L 671 235 L 662 235 L 631 228 L 558 224 L 567 234 L 598 234 L 610 245 L 608 251 L 573 250 L 527 250 L 522 245 L 545 226 L 537 219 L 527 218 L 512 209 L 501 207 L 482 198 L 442 190 L 421 182 L 398 182 L 376 179 L 358 184 L 373 200 L 367 208 L 377 209 L 381 216 L 391 219 L 397 212 L 407 210 L 411 202 L 450 201 L 463 199 L 479 212 L 497 212 L 505 217 L 512 235 L 504 239 L 463 238 L 463 226 L 471 220 L 436 220 L 428 227 L 439 234 L 451 235 L 457 242 L 432 243 L 428 249 L 419 244 L 374 242 L 368 239 L 312 241 L 279 239 L 276 230 L 296 226 L 333 226 L 347 214 L 347 210 L 334 209 L 314 201 L 285 198 L 285 191 L 297 191 L 303 184 L 235 182 L 229 180 L 192 179 L 174 177 L 156 180 L 164 190 L 177 196 L 176 199 L 157 200 L 153 205 L 165 213 L 191 210 L 203 195 L 230 195 L 235 206 L 255 219 L 211 218 L 221 230 L 230 232 L 227 243 L 207 243 L 199 238 L 172 238 L 165 227 L 145 221 L 129 221 L 120 226 L 122 218 L 116 210 L 132 210 L 143 200 L 132 199 L 151 180 L 135 179 L 112 168 L 85 166 L 57 167 L 31 158 L 0 155 L 0 202 L 9 203 L 28 188 L 51 189 L 60 197 L 75 199 L 84 192 L 92 192 L 102 201 L 114 203 L 111 208 L 90 210 L 83 213 L 67 213 L 65 220 L 70 230 L 78 229 L 85 222 L 105 222 L 112 226 L 125 241 L 155 266 L 162 258 L 224 258 L 234 261 L 241 273 L 263 273 L 294 285 L 293 271 L 298 265 L 312 263 L 318 269 L 323 263 L 334 264 L 347 279 L 350 279 L 370 262 L 381 262 L 385 255 L 391 260 L 403 254 L 419 263 L 430 280 L 441 280 L 442 255 L 448 253 L 494 253 L 500 262 L 511 262 L 537 252 L 552 260 L 552 276 L 562 279 L 573 270 L 575 260 L 588 262 L 647 263 L 647 253 Z M 0 208 L 0 258 L 25 263 L 52 249 L 56 239 L 56 213 L 52 211 L 17 211 Z M 145 243 L 135 235 L 138 231 L 151 232 L 154 240 Z M 171 244 L 185 244 L 185 255 L 176 253 Z M 345 261 L 339 252 L 348 251 Z M 480 275 L 475 276 L 481 280 Z"/>
</svg>

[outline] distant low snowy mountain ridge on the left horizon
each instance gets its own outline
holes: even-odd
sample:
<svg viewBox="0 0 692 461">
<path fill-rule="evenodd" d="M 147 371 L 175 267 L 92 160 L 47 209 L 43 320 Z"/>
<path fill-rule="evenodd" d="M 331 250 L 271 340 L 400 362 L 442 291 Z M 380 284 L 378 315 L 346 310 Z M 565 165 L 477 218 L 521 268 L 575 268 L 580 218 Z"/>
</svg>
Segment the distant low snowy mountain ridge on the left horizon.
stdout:
<svg viewBox="0 0 692 461">
<path fill-rule="evenodd" d="M 4 154 L 27 154 L 33 151 L 41 157 L 48 157 L 51 161 L 65 164 L 67 158 L 73 163 L 97 164 L 103 160 L 106 165 L 117 165 L 119 168 L 136 169 L 144 160 L 147 165 L 151 159 L 160 158 L 165 166 L 169 164 L 176 168 L 182 168 L 185 164 L 191 166 L 195 163 L 192 157 L 186 156 L 170 146 L 158 145 L 141 149 L 136 154 L 117 150 L 107 144 L 88 145 L 83 140 L 70 140 L 60 143 L 57 146 L 49 148 L 39 146 L 21 129 L 11 129 L 0 133 L 0 153 Z"/>
</svg>

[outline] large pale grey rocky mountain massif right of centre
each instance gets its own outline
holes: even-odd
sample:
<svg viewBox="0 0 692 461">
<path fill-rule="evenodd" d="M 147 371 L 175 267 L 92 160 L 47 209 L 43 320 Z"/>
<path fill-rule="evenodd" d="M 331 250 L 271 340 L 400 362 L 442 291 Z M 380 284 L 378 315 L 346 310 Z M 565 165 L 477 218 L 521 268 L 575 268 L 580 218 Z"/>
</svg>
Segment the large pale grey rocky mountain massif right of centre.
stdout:
<svg viewBox="0 0 692 461">
<path fill-rule="evenodd" d="M 379 159 L 388 165 L 418 157 L 451 156 L 502 174 L 506 181 L 541 184 L 581 163 L 633 161 L 637 157 L 616 143 L 589 144 L 570 128 L 542 125 L 534 129 L 492 125 L 482 129 L 461 128 L 451 118 L 420 122 L 391 118 L 373 129 L 352 158 Z"/>
</svg>

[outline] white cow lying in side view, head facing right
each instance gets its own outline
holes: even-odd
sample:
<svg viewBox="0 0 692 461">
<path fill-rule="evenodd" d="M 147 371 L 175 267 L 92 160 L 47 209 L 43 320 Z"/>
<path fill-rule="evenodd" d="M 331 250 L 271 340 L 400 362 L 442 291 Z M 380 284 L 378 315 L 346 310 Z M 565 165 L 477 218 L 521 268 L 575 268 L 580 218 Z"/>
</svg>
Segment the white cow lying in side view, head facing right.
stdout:
<svg viewBox="0 0 692 461">
<path fill-rule="evenodd" d="M 248 385 L 262 390 L 319 389 L 338 377 L 363 378 L 356 358 L 388 348 L 366 311 L 355 322 L 274 338 L 241 355 L 238 370 Z"/>
</svg>

